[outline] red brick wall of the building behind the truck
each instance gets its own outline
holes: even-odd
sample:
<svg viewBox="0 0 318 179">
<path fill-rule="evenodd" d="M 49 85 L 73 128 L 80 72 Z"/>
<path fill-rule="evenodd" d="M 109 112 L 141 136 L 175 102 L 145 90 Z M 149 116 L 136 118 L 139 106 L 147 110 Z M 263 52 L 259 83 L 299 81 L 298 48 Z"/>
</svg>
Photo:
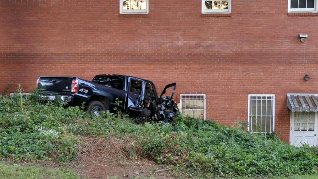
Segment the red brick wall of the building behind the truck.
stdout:
<svg viewBox="0 0 318 179">
<path fill-rule="evenodd" d="M 207 119 L 226 125 L 247 120 L 248 94 L 275 94 L 285 141 L 286 94 L 317 93 L 318 17 L 288 16 L 287 0 L 232 0 L 231 17 L 201 17 L 200 0 L 149 0 L 143 18 L 119 17 L 119 0 L 0 4 L 0 92 L 40 75 L 134 75 L 159 90 L 177 82 L 176 99 L 206 94 Z"/>
</svg>

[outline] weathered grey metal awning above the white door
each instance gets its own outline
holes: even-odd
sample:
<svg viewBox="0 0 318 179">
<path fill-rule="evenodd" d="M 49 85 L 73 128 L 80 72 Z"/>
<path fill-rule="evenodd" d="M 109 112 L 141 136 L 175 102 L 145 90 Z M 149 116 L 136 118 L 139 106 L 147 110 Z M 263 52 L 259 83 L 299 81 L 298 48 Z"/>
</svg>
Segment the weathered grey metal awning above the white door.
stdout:
<svg viewBox="0 0 318 179">
<path fill-rule="evenodd" d="M 318 94 L 287 94 L 287 108 L 292 112 L 317 112 Z"/>
</svg>

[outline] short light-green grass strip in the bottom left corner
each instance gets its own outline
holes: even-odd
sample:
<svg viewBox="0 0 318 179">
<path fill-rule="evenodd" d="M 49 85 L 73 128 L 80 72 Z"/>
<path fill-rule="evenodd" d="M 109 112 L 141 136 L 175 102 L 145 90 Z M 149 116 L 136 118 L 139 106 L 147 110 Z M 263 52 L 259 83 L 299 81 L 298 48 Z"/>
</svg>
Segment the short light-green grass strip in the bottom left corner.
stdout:
<svg viewBox="0 0 318 179">
<path fill-rule="evenodd" d="M 42 168 L 41 166 L 20 166 L 0 163 L 0 178 L 5 179 L 78 179 L 72 169 Z"/>
</svg>

